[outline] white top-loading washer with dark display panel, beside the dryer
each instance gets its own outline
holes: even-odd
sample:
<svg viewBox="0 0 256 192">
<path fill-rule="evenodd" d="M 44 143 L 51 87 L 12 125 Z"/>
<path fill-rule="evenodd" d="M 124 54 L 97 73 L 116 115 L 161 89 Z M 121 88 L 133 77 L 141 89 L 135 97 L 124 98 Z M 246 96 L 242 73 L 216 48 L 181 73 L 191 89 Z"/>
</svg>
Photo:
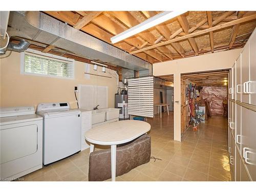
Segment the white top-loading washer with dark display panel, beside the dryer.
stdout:
<svg viewBox="0 0 256 192">
<path fill-rule="evenodd" d="M 81 151 L 79 110 L 71 110 L 68 102 L 40 103 L 36 113 L 44 117 L 44 165 Z"/>
</svg>

